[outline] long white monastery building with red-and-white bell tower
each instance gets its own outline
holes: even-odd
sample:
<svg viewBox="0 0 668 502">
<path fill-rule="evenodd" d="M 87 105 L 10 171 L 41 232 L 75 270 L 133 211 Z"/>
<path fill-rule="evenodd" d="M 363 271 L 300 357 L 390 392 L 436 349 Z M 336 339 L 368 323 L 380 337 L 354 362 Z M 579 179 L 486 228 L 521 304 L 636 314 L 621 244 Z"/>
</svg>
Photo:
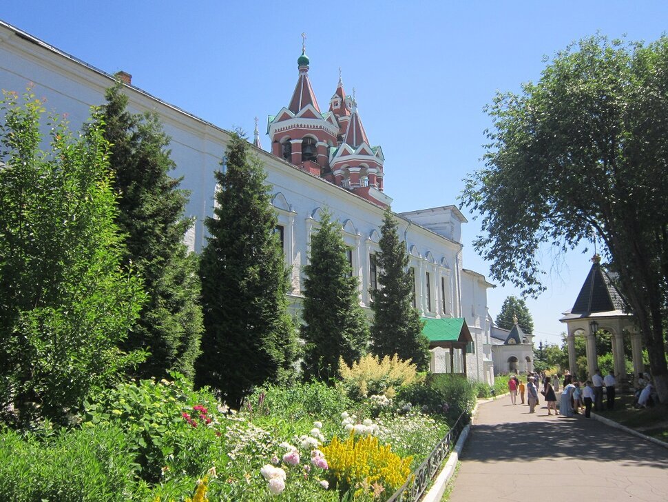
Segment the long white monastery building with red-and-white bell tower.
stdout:
<svg viewBox="0 0 668 502">
<path fill-rule="evenodd" d="M 392 202 L 384 193 L 385 158 L 382 148 L 370 141 L 355 98 L 346 94 L 341 79 L 333 85 L 327 108 L 320 108 L 309 81 L 309 65 L 302 50 L 293 94 L 286 89 L 287 106 L 277 103 L 278 113 L 267 121 L 271 152 L 260 148 L 257 126 L 253 141 L 273 186 L 277 230 L 292 271 L 291 309 L 300 312 L 302 268 L 309 259 L 311 232 L 319 225 L 320 212 L 328 208 L 351 246 L 348 259 L 359 278 L 359 301 L 370 314 L 369 292 L 376 285 L 374 254 L 379 250 L 384 210 Z M 0 88 L 20 94 L 32 83 L 50 110 L 67 113 L 74 130 L 89 118 L 90 106 L 104 103 L 105 89 L 118 78 L 125 82 L 129 108 L 156 112 L 171 137 L 174 175 L 183 177 L 181 187 L 191 192 L 187 213 L 196 220 L 185 239 L 191 250 L 200 252 L 205 245 L 203 222 L 213 214 L 213 172 L 220 169 L 229 132 L 132 86 L 129 74 L 107 74 L 0 21 Z M 396 176 L 400 170 L 397 166 L 388 174 Z M 466 218 L 454 205 L 395 217 L 415 272 L 416 308 L 426 319 L 463 319 L 455 354 L 452 343 L 449 353 L 443 348 L 447 341 L 432 343 L 432 371 L 456 369 L 491 383 L 492 363 L 483 344 L 489 345 L 486 290 L 492 285 L 481 274 L 463 268 L 461 224 Z M 463 343 L 466 350 L 461 349 Z"/>
</svg>

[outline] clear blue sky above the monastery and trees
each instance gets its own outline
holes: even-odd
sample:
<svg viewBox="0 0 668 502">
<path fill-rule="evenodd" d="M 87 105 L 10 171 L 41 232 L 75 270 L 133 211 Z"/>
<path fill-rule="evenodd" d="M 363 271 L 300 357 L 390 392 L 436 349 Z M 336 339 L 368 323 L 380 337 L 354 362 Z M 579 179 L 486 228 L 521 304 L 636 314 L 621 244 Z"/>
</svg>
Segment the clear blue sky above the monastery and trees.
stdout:
<svg viewBox="0 0 668 502">
<path fill-rule="evenodd" d="M 370 142 L 383 147 L 385 191 L 401 212 L 459 205 L 461 180 L 481 167 L 490 126 L 483 106 L 497 90 L 535 81 L 546 56 L 597 31 L 657 39 L 667 28 L 668 2 L 14 1 L 0 5 L 0 19 L 101 70 L 125 70 L 134 85 L 202 119 L 250 134 L 255 116 L 266 124 L 288 104 L 306 32 L 320 107 L 327 108 L 342 68 Z M 471 245 L 479 223 L 463 212 L 470 220 L 464 266 L 488 276 Z M 574 303 L 591 254 L 547 250 L 541 257 L 548 289 L 528 299 L 536 339 L 559 343 L 559 317 Z M 516 291 L 508 285 L 489 291 L 492 317 L 509 294 Z"/>
</svg>

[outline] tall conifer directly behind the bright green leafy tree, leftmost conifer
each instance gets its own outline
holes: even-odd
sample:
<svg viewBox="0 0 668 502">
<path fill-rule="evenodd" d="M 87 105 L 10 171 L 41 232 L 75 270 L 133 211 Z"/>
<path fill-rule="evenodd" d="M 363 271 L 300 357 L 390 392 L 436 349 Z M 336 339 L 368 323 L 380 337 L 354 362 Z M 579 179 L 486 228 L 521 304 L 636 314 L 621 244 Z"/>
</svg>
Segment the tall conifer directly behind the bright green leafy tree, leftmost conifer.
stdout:
<svg viewBox="0 0 668 502">
<path fill-rule="evenodd" d="M 183 243 L 193 224 L 185 218 L 188 192 L 169 176 L 169 137 L 155 114 L 130 114 L 121 84 L 109 88 L 103 107 L 105 138 L 111 143 L 116 222 L 125 234 L 126 263 L 144 281 L 148 301 L 125 350 L 145 349 L 140 376 L 176 370 L 192 378 L 203 330 L 197 258 Z"/>
</svg>

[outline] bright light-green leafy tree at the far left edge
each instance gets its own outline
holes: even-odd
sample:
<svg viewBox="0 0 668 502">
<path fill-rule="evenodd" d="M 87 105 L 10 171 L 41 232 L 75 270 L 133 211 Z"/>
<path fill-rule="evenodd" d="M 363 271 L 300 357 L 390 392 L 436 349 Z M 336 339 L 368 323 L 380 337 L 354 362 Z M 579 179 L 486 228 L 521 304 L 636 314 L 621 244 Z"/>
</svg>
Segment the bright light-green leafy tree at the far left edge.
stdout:
<svg viewBox="0 0 668 502">
<path fill-rule="evenodd" d="M 144 299 L 123 239 L 99 117 L 74 137 L 27 93 L 0 105 L 0 410 L 63 421 L 140 360 L 118 344 Z M 45 141 L 46 142 L 46 141 Z"/>
</svg>

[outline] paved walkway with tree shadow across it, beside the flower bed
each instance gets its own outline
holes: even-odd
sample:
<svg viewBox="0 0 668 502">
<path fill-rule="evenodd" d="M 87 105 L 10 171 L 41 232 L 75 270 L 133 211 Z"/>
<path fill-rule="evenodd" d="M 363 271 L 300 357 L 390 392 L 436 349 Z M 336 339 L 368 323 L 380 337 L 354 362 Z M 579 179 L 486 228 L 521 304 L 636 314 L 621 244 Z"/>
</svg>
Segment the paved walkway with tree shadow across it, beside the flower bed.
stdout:
<svg viewBox="0 0 668 502">
<path fill-rule="evenodd" d="M 479 406 L 449 500 L 666 502 L 668 449 L 503 396 Z"/>
</svg>

